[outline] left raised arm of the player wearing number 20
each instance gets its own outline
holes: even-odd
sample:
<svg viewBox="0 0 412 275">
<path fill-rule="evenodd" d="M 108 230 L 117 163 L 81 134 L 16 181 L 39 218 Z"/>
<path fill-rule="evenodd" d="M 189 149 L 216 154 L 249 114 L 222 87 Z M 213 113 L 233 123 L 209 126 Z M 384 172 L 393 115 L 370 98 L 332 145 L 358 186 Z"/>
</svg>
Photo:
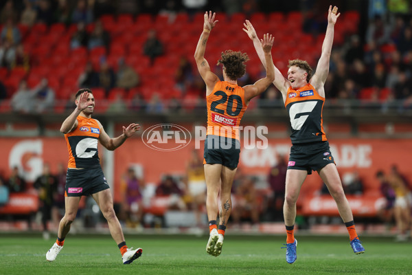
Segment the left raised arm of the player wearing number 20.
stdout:
<svg viewBox="0 0 412 275">
<path fill-rule="evenodd" d="M 219 81 L 218 76 L 212 73 L 209 67 L 209 63 L 207 63 L 205 59 L 205 50 L 206 50 L 206 43 L 207 39 L 209 39 L 209 34 L 212 28 L 216 25 L 218 20 L 214 20 L 216 13 L 214 12 L 213 15 L 211 11 L 205 12 L 205 22 L 203 23 L 203 32 L 201 34 L 201 38 L 199 39 L 196 52 L 194 52 L 194 60 L 196 61 L 196 65 L 198 67 L 198 71 L 201 74 L 203 80 L 205 81 L 207 87 L 207 94 L 213 90 L 214 85 L 216 82 Z M 210 90 L 210 91 L 209 91 Z"/>
</svg>

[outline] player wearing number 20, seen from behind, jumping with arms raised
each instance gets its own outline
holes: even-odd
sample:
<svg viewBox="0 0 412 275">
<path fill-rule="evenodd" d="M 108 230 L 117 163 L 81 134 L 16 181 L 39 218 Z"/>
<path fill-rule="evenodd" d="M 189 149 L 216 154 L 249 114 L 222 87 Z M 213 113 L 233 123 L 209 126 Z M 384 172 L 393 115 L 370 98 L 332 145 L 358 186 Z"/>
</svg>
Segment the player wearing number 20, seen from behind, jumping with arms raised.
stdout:
<svg viewBox="0 0 412 275">
<path fill-rule="evenodd" d="M 239 124 L 249 101 L 262 94 L 274 80 L 271 49 L 272 35 L 265 34 L 259 41 L 266 65 L 266 77 L 253 85 L 238 86 L 238 78 L 246 72 L 244 64 L 249 58 L 242 52 L 222 52 L 218 65 L 222 65 L 223 81 L 211 72 L 205 59 L 207 39 L 216 26 L 215 13 L 205 12 L 203 32 L 196 46 L 194 58 L 206 84 L 207 137 L 204 149 L 204 168 L 207 186 L 206 208 L 209 219 L 207 253 L 218 256 L 222 252 L 227 220 L 231 213 L 231 186 L 239 163 Z M 229 39 L 229 38 L 228 38 Z M 233 39 L 231 37 L 230 39 Z M 220 210 L 218 196 L 220 195 Z M 216 218 L 219 214 L 219 223 Z"/>
</svg>

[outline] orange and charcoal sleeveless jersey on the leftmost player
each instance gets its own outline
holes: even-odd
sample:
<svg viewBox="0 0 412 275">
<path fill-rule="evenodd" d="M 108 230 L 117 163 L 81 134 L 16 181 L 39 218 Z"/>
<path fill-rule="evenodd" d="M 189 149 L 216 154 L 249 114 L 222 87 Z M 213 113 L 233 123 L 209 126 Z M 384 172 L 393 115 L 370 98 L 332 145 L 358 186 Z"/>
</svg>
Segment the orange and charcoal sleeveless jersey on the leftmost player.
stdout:
<svg viewBox="0 0 412 275">
<path fill-rule="evenodd" d="M 98 140 L 100 126 L 93 118 L 77 117 L 78 126 L 65 134 L 69 150 L 68 168 L 100 167 Z"/>
</svg>

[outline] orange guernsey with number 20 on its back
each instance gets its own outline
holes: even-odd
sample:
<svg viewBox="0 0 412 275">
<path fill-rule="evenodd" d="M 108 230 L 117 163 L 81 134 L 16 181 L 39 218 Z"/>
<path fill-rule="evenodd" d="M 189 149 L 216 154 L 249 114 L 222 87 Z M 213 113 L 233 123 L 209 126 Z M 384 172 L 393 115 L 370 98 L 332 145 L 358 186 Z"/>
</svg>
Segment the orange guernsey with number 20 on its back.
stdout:
<svg viewBox="0 0 412 275">
<path fill-rule="evenodd" d="M 207 100 L 207 135 L 239 140 L 239 125 L 247 109 L 244 89 L 226 81 L 216 83 Z"/>
</svg>

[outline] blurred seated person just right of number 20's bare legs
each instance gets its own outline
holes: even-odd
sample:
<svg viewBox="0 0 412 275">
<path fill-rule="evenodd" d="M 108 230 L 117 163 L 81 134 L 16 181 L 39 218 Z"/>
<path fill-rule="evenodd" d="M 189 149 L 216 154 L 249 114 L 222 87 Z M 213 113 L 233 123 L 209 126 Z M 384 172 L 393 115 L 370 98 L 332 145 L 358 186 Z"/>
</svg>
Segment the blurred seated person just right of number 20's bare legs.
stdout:
<svg viewBox="0 0 412 275">
<path fill-rule="evenodd" d="M 239 225 L 243 218 L 250 220 L 252 225 L 258 225 L 260 203 L 258 203 L 255 179 L 253 177 L 240 179 L 240 185 L 235 187 L 233 198 L 231 212 L 233 223 Z"/>
</svg>

